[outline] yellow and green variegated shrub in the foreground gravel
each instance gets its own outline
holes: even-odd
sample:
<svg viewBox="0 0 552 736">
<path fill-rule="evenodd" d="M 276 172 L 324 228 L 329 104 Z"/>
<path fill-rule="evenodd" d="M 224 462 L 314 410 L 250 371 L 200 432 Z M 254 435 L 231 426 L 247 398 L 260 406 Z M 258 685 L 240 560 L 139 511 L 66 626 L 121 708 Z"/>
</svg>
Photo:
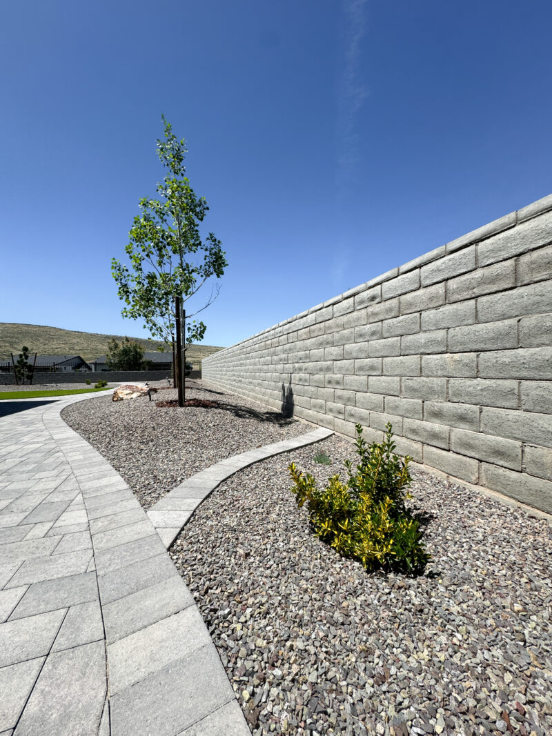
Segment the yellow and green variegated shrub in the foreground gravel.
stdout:
<svg viewBox="0 0 552 736">
<path fill-rule="evenodd" d="M 333 475 L 320 490 L 313 476 L 289 466 L 291 492 L 300 508 L 307 503 L 317 537 L 339 554 L 360 560 L 367 570 L 417 573 L 431 559 L 422 542 L 420 523 L 405 506 L 411 476 L 408 464 L 394 454 L 392 425 L 386 424 L 383 442 L 372 445 L 356 425 L 355 452 L 360 461 L 345 461 L 348 479 Z"/>
</svg>

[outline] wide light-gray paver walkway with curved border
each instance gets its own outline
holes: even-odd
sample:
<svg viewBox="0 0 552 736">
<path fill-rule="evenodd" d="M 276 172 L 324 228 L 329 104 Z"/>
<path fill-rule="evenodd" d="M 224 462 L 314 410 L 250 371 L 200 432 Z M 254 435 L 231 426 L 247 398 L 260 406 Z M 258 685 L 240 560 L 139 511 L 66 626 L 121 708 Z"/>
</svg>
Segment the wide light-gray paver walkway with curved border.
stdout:
<svg viewBox="0 0 552 736">
<path fill-rule="evenodd" d="M 0 419 L 0 735 L 249 736 L 166 540 L 60 417 L 97 395 Z"/>
</svg>

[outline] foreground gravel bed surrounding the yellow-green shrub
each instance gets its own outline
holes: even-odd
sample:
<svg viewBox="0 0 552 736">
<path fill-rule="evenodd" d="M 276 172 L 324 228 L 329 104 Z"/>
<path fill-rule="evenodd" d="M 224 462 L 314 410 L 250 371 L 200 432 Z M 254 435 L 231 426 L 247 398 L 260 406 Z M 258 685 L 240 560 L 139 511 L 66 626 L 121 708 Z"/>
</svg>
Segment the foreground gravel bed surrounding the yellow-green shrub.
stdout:
<svg viewBox="0 0 552 736">
<path fill-rule="evenodd" d="M 171 548 L 252 734 L 551 735 L 552 527 L 414 470 L 433 561 L 367 574 L 314 537 L 286 470 L 352 456 L 333 436 L 241 470 Z"/>
</svg>

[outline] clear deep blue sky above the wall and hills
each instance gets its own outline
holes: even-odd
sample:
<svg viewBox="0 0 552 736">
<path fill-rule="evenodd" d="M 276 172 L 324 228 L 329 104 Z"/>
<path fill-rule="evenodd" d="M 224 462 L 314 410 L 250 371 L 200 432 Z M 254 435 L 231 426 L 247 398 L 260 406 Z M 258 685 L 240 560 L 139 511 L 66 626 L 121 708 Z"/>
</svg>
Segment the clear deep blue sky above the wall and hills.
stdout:
<svg viewBox="0 0 552 736">
<path fill-rule="evenodd" d="M 146 336 L 110 259 L 188 143 L 230 345 L 552 192 L 549 0 L 2 4 L 0 321 Z"/>
</svg>

